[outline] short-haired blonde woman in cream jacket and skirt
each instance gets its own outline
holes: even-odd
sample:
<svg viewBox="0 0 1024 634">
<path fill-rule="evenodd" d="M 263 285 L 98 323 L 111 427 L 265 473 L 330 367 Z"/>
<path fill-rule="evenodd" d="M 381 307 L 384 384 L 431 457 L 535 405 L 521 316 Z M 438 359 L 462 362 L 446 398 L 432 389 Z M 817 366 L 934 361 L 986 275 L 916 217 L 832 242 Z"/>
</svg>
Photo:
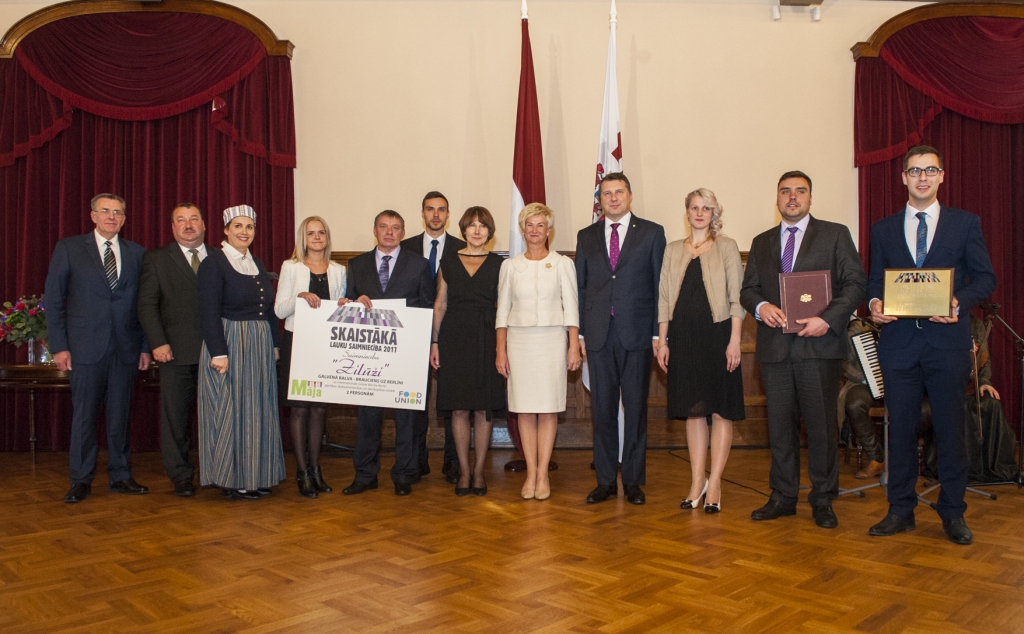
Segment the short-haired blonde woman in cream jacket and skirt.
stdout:
<svg viewBox="0 0 1024 634">
<path fill-rule="evenodd" d="M 548 463 L 566 371 L 580 367 L 580 306 L 572 260 L 548 250 L 554 213 L 532 203 L 519 213 L 526 252 L 502 263 L 498 280 L 496 365 L 508 379 L 509 410 L 519 415 L 526 459 L 524 500 L 551 496 Z"/>
</svg>

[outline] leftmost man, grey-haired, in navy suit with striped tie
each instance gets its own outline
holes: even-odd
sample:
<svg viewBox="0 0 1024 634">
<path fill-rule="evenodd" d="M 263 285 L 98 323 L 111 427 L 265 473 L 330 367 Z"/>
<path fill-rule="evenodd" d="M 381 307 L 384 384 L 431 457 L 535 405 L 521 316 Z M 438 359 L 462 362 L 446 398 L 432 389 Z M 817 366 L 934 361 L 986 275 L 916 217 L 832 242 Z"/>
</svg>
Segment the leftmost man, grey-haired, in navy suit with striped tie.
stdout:
<svg viewBox="0 0 1024 634">
<path fill-rule="evenodd" d="M 85 500 L 96 474 L 96 418 L 106 408 L 111 493 L 141 495 L 129 464 L 128 417 L 135 376 L 150 367 L 150 348 L 135 314 L 145 249 L 120 240 L 124 199 L 92 199 L 95 229 L 53 248 L 46 276 L 46 326 L 57 369 L 71 373 L 71 490 L 65 502 Z M 74 365 L 73 365 L 74 364 Z"/>
</svg>

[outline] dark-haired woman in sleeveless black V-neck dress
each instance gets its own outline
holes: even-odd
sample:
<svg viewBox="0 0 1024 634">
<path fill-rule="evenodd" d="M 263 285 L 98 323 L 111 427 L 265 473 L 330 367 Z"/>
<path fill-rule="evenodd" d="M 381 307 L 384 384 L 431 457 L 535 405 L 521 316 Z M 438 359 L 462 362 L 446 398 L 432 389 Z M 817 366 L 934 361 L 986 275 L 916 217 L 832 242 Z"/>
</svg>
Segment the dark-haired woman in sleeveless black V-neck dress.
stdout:
<svg viewBox="0 0 1024 634">
<path fill-rule="evenodd" d="M 470 207 L 459 220 L 459 228 L 466 248 L 445 252 L 437 272 L 430 365 L 437 370 L 437 409 L 452 412 L 460 468 L 455 494 L 482 496 L 487 493 L 483 463 L 490 445 L 490 414 L 505 407 L 505 381 L 495 366 L 495 312 L 503 259 L 486 249 L 495 235 L 489 211 Z M 470 413 L 476 448 L 472 471 Z"/>
</svg>

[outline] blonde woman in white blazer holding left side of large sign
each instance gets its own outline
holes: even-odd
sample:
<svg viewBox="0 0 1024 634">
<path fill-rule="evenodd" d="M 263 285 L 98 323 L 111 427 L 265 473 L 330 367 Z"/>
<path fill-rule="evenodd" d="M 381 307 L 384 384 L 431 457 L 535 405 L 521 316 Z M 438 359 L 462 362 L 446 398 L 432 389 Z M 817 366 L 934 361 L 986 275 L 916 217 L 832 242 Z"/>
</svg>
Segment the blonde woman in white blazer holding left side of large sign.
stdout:
<svg viewBox="0 0 1024 634">
<path fill-rule="evenodd" d="M 324 437 L 327 407 L 288 398 L 292 367 L 292 332 L 295 330 L 295 302 L 305 301 L 313 308 L 322 300 L 339 301 L 345 296 L 345 267 L 331 261 L 331 229 L 319 216 L 309 216 L 295 233 L 295 251 L 281 265 L 278 297 L 273 311 L 285 320 L 279 372 L 281 398 L 292 409 L 292 448 L 298 465 L 299 493 L 315 498 L 333 490 L 324 481 L 319 469 L 319 448 Z"/>
</svg>

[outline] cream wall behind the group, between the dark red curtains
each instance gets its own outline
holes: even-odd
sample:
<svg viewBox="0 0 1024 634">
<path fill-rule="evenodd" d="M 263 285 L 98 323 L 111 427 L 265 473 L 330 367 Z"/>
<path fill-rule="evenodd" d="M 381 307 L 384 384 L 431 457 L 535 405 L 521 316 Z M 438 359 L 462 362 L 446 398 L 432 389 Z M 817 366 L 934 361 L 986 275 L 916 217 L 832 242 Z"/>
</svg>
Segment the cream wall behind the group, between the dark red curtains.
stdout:
<svg viewBox="0 0 1024 634">
<path fill-rule="evenodd" d="M 0 3 L 0 30 L 48 2 Z M 236 0 L 295 44 L 296 215 L 325 216 L 335 250 L 372 244 L 373 216 L 440 189 L 495 213 L 508 245 L 519 0 Z M 911 2 L 826 0 L 822 19 L 772 0 L 618 2 L 618 88 L 634 209 L 684 237 L 682 198 L 713 189 L 741 249 L 777 221 L 775 182 L 802 169 L 813 213 L 856 240 L 854 62 Z M 605 0 L 532 0 L 554 247 L 590 221 L 608 36 Z"/>
</svg>

